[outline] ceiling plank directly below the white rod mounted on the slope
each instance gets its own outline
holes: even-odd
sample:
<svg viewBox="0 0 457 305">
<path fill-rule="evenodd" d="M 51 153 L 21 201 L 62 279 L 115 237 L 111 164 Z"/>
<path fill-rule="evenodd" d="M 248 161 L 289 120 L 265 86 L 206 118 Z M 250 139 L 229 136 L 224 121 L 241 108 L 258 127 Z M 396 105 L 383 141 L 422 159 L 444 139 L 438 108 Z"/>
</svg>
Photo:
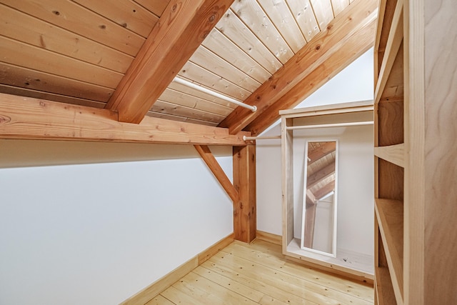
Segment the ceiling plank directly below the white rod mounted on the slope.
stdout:
<svg viewBox="0 0 457 305">
<path fill-rule="evenodd" d="M 219 114 L 220 116 L 228 116 L 233 109 L 215 104 L 212 101 L 206 101 L 204 99 L 199 99 L 196 96 L 191 96 L 180 91 L 167 88 L 161 96 L 159 96 L 159 101 L 166 101 L 171 104 L 176 104 L 180 106 L 186 106 L 189 108 L 199 109 L 201 111 L 206 111 L 211 114 Z M 153 105 L 154 108 L 154 105 Z"/>
</svg>

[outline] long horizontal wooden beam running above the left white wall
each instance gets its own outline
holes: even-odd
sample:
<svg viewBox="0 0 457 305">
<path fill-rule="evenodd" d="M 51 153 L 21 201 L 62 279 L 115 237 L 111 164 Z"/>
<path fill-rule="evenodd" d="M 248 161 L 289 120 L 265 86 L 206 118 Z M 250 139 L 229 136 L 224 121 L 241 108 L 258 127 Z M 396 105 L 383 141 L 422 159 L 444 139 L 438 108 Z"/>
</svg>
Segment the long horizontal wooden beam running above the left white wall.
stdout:
<svg viewBox="0 0 457 305">
<path fill-rule="evenodd" d="M 122 123 L 108 109 L 0 94 L 0 139 L 243 146 L 243 136 L 250 135 L 149 116 L 141 124 Z"/>
</svg>

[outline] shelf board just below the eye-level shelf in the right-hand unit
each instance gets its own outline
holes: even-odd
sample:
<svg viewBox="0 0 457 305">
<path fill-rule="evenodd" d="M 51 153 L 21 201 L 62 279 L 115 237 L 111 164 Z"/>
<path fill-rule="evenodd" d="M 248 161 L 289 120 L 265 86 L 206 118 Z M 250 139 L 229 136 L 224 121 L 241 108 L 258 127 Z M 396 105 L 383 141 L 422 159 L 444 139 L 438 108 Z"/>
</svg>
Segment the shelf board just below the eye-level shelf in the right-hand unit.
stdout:
<svg viewBox="0 0 457 305">
<path fill-rule="evenodd" d="M 397 304 L 403 304 L 403 202 L 376 199 L 375 210 L 393 292 Z"/>
</svg>

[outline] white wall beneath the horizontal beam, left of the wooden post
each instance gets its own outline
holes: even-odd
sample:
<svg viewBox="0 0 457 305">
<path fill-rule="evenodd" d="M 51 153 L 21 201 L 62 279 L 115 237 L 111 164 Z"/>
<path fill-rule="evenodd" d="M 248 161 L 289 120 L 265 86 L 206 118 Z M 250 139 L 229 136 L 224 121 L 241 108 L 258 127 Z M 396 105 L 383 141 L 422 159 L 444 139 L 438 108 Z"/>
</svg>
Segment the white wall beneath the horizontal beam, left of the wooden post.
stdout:
<svg viewBox="0 0 457 305">
<path fill-rule="evenodd" d="M 119 304 L 233 231 L 192 146 L 0 147 L 2 167 L 39 165 L 0 169 L 0 304 Z M 213 149 L 231 177 L 231 148 Z"/>
</svg>

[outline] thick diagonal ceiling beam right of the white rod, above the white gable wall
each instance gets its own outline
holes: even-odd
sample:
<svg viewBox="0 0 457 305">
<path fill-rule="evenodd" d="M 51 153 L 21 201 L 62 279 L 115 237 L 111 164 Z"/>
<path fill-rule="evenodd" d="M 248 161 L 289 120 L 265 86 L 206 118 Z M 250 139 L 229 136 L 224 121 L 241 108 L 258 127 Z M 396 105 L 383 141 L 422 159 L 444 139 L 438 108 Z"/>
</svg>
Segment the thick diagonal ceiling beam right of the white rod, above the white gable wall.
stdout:
<svg viewBox="0 0 457 305">
<path fill-rule="evenodd" d="M 376 12 L 376 0 L 358 0 L 348 6 L 348 9 L 338 15 L 325 31 L 321 31 L 244 101 L 246 104 L 257 106 L 256 112 L 237 107 L 219 126 L 228 127 L 234 134 L 244 129 L 258 116 L 263 116 L 263 112 L 268 107 L 276 104 L 333 54 L 338 52 L 339 56 L 340 50 L 351 40 L 351 37 L 358 39 L 359 46 L 367 44 L 367 41 L 372 46 L 373 26 L 371 25 L 376 20 Z M 351 52 L 355 51 L 358 49 L 351 49 Z"/>
</svg>

